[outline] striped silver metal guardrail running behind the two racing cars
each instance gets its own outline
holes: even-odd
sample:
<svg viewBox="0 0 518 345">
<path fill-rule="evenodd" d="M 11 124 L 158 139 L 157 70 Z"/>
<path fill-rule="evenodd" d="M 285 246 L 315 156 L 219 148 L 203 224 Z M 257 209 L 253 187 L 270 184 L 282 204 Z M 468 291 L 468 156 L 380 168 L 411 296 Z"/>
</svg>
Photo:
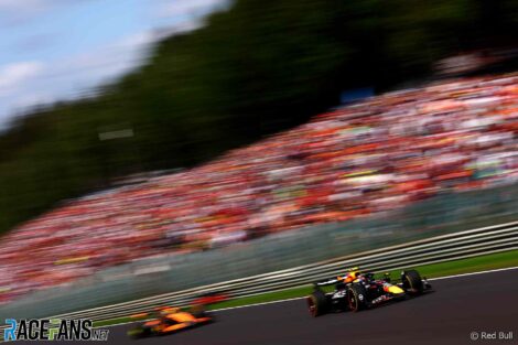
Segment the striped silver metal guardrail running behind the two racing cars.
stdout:
<svg viewBox="0 0 518 345">
<path fill-rule="evenodd" d="M 512 249 L 518 249 L 518 222 L 436 236 L 276 272 L 154 295 L 131 302 L 54 315 L 52 317 L 108 320 L 149 311 L 157 305 L 187 305 L 199 294 L 212 291 L 226 291 L 231 297 L 237 298 L 293 288 L 331 276 L 337 276 L 343 273 L 346 267 L 352 266 L 359 266 L 363 269 L 376 272 Z"/>
</svg>

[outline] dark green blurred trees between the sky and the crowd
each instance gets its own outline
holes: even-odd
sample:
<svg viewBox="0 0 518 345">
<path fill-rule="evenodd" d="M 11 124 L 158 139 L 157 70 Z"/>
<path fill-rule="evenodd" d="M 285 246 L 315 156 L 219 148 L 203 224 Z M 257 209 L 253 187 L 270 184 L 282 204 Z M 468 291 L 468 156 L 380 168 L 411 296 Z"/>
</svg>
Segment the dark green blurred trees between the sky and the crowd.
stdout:
<svg viewBox="0 0 518 345">
<path fill-rule="evenodd" d="M 34 109 L 0 137 L 0 231 L 116 175 L 191 166 L 460 51 L 509 44 L 512 0 L 244 0 L 94 98 Z M 99 140 L 132 128 L 134 136 Z"/>
</svg>

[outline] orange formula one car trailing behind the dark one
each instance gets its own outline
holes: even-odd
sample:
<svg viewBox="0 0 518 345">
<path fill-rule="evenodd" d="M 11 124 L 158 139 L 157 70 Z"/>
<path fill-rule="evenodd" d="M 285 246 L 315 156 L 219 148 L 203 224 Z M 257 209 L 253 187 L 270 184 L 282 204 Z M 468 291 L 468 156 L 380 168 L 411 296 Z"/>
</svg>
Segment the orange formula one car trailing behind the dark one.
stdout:
<svg viewBox="0 0 518 345">
<path fill-rule="evenodd" d="M 203 305 L 195 305 L 190 311 L 182 311 L 180 308 L 161 306 L 157 308 L 152 313 L 133 315 L 133 317 L 143 316 L 151 316 L 152 319 L 130 330 L 128 332 L 130 337 L 142 338 L 153 335 L 166 335 L 214 321 L 205 312 Z"/>
</svg>

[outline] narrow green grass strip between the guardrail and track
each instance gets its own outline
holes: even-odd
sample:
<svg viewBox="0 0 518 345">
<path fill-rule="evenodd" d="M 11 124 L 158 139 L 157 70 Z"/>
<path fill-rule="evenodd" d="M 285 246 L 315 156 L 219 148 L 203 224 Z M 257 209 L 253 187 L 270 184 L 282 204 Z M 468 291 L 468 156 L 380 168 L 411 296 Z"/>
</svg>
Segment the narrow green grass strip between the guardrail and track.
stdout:
<svg viewBox="0 0 518 345">
<path fill-rule="evenodd" d="M 510 250 L 505 252 L 497 252 L 492 255 L 485 255 L 468 259 L 452 260 L 441 263 L 432 263 L 425 266 L 418 266 L 416 269 L 421 273 L 422 277 L 427 278 L 438 278 L 445 276 L 454 276 L 461 273 L 471 273 L 477 271 L 486 271 L 492 269 L 507 268 L 518 266 L 518 250 Z M 400 270 L 395 270 L 390 272 L 393 278 L 398 277 Z M 261 294 L 256 294 L 247 298 L 239 298 L 235 300 L 229 300 L 220 303 L 211 305 L 211 310 L 219 310 L 234 306 L 244 306 L 257 303 L 274 302 L 294 298 L 301 298 L 307 295 L 311 292 L 311 284 L 274 291 L 267 292 Z M 140 320 L 143 320 L 140 319 Z M 121 323 L 127 323 L 131 321 L 139 321 L 139 319 L 133 317 L 118 317 L 112 320 L 105 320 L 95 322 L 96 327 L 116 325 Z"/>
</svg>

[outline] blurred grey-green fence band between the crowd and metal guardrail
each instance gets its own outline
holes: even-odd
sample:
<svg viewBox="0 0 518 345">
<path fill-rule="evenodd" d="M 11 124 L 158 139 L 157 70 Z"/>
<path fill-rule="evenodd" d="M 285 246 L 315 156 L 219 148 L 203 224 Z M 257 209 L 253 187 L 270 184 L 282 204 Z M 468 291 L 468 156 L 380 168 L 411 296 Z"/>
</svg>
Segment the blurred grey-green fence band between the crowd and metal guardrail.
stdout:
<svg viewBox="0 0 518 345">
<path fill-rule="evenodd" d="M 139 260 L 104 270 L 72 287 L 39 291 L 2 305 L 0 320 L 68 314 L 144 297 L 169 295 L 171 292 L 182 292 L 183 295 L 185 291 L 199 291 L 198 288 L 204 285 L 236 281 L 250 276 L 262 277 L 269 272 L 305 267 L 314 262 L 332 262 L 333 258 L 370 249 L 511 222 L 516 219 L 518 209 L 517 192 L 518 185 L 512 185 L 445 194 L 374 217 L 287 231 L 206 252 Z M 486 245 L 495 241 L 496 247 L 478 247 L 476 250 L 500 250 L 503 247 L 498 246 L 503 244 L 496 241 L 503 239 L 505 238 L 487 238 Z M 445 249 L 450 251 L 445 251 L 444 257 L 446 254 L 450 257 L 456 255 L 457 248 Z M 470 252 L 465 251 L 465 255 Z M 427 258 L 432 260 L 431 257 Z M 395 265 L 400 262 L 395 261 Z M 298 283 L 302 282 L 303 279 L 300 278 Z M 246 282 L 242 284 L 246 285 Z M 253 291 L 235 292 L 241 295 L 282 287 L 284 284 L 281 281 L 269 281 L 268 284 L 257 284 Z"/>
</svg>

